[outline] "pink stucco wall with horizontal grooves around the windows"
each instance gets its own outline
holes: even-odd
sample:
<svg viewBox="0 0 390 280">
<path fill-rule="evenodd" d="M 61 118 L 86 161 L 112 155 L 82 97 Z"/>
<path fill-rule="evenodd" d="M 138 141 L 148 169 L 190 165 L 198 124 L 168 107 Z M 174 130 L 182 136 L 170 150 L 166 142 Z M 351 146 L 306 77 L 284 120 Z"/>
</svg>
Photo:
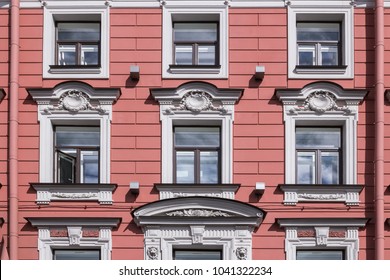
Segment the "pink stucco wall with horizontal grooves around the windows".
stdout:
<svg viewBox="0 0 390 280">
<path fill-rule="evenodd" d="M 390 12 L 387 13 L 390 23 Z M 374 86 L 374 17 L 372 9 L 355 9 L 354 59 L 355 78 L 333 81 L 345 89 Z M 150 97 L 150 88 L 177 87 L 186 80 L 163 80 L 162 15 L 160 9 L 111 9 L 110 78 L 83 80 L 93 87 L 120 88 L 122 95 L 113 106 L 111 132 L 111 182 L 117 183 L 112 206 L 95 202 L 56 202 L 37 206 L 36 193 L 29 183 L 38 182 L 39 123 L 37 105 L 26 88 L 52 88 L 62 80 L 42 79 L 43 15 L 40 9 L 22 9 L 20 39 L 19 92 L 19 257 L 37 259 L 37 231 L 25 217 L 120 217 L 120 227 L 113 231 L 112 259 L 143 259 L 143 233 L 132 222 L 133 208 L 158 199 L 153 184 L 161 182 L 161 129 L 159 106 Z M 8 84 L 8 12 L 0 9 L 0 87 Z M 3 32 L 4 31 L 4 32 Z M 390 24 L 386 26 L 386 42 L 390 42 Z M 387 56 L 386 65 L 390 62 Z M 141 69 L 138 83 L 129 81 L 129 66 Z M 256 65 L 264 65 L 266 75 L 259 83 L 253 80 Z M 390 68 L 385 67 L 386 86 L 390 86 Z M 238 200 L 252 203 L 267 212 L 253 236 L 254 259 L 284 259 L 285 232 L 276 218 L 291 217 L 367 217 L 373 219 L 374 199 L 374 98 L 370 92 L 359 108 L 358 183 L 365 185 L 361 204 L 352 208 L 340 203 L 284 206 L 283 193 L 277 188 L 284 183 L 284 124 L 282 105 L 275 89 L 302 88 L 313 80 L 289 80 L 287 77 L 286 9 L 229 10 L 229 79 L 209 80 L 220 88 L 243 88 L 244 94 L 235 106 L 234 183 L 241 188 Z M 389 105 L 387 103 L 387 105 Z M 0 103 L 0 203 L 7 203 L 7 97 Z M 390 117 L 390 106 L 386 106 Z M 390 126 L 386 124 L 386 138 Z M 386 141 L 386 167 L 390 167 L 390 141 Z M 388 168 L 386 168 L 387 170 Z M 138 197 L 128 192 L 130 181 L 139 181 Z M 258 199 L 252 194 L 256 182 L 265 182 L 265 194 Z M 385 182 L 390 182 L 386 172 Z M 387 192 L 388 193 L 388 192 Z M 390 199 L 386 200 L 387 209 Z M 5 208 L 2 207 L 2 216 Z M 388 211 L 388 210 L 387 210 Z M 325 214 L 326 212 L 326 214 Z M 389 216 L 389 213 L 385 213 Z M 6 235 L 7 224 L 2 227 Z M 390 231 L 386 227 L 386 257 L 390 259 Z M 369 222 L 361 230 L 360 258 L 372 259 L 374 230 Z"/>
</svg>

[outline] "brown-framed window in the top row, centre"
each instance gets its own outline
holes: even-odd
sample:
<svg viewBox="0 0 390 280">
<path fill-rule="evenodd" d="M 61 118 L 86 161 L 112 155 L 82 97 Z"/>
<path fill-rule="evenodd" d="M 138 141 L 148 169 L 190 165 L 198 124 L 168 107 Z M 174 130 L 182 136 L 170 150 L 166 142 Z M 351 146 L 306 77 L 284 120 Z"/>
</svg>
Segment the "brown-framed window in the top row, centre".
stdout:
<svg viewBox="0 0 390 280">
<path fill-rule="evenodd" d="M 218 59 L 218 23 L 174 22 L 175 65 L 212 65 Z"/>
</svg>

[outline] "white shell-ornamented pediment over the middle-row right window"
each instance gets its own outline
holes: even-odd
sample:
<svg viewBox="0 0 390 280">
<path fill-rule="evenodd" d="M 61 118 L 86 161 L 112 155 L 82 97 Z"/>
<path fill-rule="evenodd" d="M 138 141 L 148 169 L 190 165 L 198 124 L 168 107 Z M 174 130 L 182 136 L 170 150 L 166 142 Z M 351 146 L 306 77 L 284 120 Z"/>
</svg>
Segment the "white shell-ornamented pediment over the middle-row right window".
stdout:
<svg viewBox="0 0 390 280">
<path fill-rule="evenodd" d="M 344 90 L 332 83 L 313 83 L 303 89 L 279 89 L 285 115 L 294 114 L 357 114 L 357 106 L 367 90 Z"/>
</svg>

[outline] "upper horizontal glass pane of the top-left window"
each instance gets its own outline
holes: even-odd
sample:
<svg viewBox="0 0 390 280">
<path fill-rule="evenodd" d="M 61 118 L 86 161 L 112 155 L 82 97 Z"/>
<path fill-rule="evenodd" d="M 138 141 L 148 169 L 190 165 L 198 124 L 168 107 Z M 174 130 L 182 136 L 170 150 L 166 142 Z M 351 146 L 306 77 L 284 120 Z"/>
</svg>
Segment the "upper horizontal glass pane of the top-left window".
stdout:
<svg viewBox="0 0 390 280">
<path fill-rule="evenodd" d="M 57 36 L 60 41 L 99 41 L 100 24 L 85 22 L 60 22 L 57 24 Z"/>
</svg>

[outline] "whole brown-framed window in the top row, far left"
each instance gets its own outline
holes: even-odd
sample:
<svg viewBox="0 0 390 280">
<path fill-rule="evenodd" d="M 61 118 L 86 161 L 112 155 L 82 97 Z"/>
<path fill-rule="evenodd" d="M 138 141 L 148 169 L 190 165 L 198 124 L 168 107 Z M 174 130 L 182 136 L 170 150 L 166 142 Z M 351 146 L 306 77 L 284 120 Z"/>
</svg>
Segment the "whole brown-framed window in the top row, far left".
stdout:
<svg viewBox="0 0 390 280">
<path fill-rule="evenodd" d="M 57 22 L 56 31 L 57 65 L 100 65 L 99 22 Z"/>
</svg>

